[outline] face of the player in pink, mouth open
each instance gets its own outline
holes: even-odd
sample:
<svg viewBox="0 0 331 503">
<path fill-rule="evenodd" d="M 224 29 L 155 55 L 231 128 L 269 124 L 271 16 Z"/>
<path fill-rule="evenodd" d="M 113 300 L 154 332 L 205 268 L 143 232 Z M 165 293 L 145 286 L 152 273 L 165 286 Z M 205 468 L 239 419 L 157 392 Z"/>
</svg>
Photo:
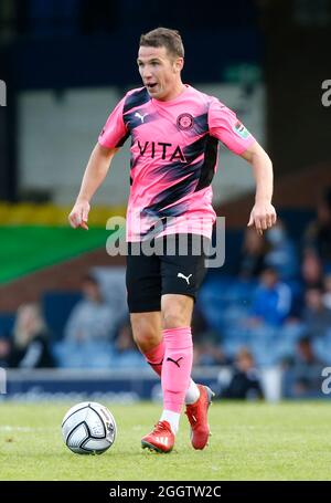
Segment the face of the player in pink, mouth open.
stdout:
<svg viewBox="0 0 331 503">
<path fill-rule="evenodd" d="M 182 57 L 172 57 L 167 49 L 140 46 L 138 67 L 149 95 L 156 99 L 172 99 L 181 85 L 180 72 L 183 67 Z"/>
</svg>

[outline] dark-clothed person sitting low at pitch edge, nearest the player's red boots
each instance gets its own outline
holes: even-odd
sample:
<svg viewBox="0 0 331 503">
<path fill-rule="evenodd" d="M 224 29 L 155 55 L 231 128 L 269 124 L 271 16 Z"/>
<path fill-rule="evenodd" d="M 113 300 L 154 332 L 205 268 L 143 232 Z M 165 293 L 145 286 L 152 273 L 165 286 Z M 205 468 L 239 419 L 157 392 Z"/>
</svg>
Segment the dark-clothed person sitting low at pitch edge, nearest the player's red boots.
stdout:
<svg viewBox="0 0 331 503">
<path fill-rule="evenodd" d="M 242 348 L 236 356 L 234 374 L 228 386 L 221 391 L 221 398 L 247 400 L 263 397 L 253 355 Z"/>
</svg>

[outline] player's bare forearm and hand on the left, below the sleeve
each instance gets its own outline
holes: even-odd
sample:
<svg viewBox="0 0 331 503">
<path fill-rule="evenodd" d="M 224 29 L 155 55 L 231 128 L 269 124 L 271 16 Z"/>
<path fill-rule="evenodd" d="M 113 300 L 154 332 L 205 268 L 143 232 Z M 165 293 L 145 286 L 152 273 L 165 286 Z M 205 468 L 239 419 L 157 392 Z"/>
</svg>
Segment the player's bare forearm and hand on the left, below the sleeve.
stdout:
<svg viewBox="0 0 331 503">
<path fill-rule="evenodd" d="M 88 230 L 89 201 L 106 178 L 117 150 L 118 148 L 107 148 L 99 143 L 94 147 L 84 172 L 78 197 L 68 216 L 68 221 L 74 229 L 82 227 Z"/>
</svg>

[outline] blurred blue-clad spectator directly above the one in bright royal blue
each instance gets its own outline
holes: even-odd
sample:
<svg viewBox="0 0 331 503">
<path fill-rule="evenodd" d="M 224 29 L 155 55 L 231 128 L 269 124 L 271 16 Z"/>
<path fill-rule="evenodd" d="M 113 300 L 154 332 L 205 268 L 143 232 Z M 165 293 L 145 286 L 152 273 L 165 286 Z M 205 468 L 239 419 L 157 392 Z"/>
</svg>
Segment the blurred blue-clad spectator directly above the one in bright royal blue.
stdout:
<svg viewBox="0 0 331 503">
<path fill-rule="evenodd" d="M 296 277 L 299 263 L 298 254 L 281 220 L 278 219 L 273 229 L 266 231 L 266 240 L 269 248 L 265 255 L 265 265 L 275 269 L 280 280 Z"/>
</svg>

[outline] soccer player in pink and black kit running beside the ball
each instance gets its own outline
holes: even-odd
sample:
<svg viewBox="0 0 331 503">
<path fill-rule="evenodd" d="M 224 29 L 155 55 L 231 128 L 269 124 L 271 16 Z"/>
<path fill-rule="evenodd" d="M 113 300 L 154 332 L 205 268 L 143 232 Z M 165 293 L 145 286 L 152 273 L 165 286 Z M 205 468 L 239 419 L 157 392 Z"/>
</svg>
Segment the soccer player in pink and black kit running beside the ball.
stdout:
<svg viewBox="0 0 331 503">
<path fill-rule="evenodd" d="M 75 206 L 72 227 L 88 229 L 89 201 L 105 179 L 116 151 L 131 136 L 131 190 L 126 239 L 128 306 L 134 338 L 160 375 L 163 411 L 143 448 L 170 452 L 183 405 L 194 449 L 210 436 L 207 409 L 213 392 L 191 379 L 191 316 L 205 273 L 196 239 L 210 240 L 215 212 L 211 181 L 222 140 L 253 167 L 255 205 L 248 226 L 261 233 L 276 222 L 273 166 L 236 115 L 216 97 L 183 84 L 184 49 L 178 31 L 158 28 L 141 35 L 138 69 L 143 87 L 129 91 L 109 115 L 96 144 Z M 179 238 L 188 238 L 182 254 Z M 172 239 L 175 252 L 137 253 L 146 239 Z M 140 244 L 139 244 L 140 243 Z M 157 247 L 156 247 L 157 249 Z M 164 248 L 163 248 L 164 250 Z M 140 250 L 141 251 L 141 250 Z"/>
</svg>

